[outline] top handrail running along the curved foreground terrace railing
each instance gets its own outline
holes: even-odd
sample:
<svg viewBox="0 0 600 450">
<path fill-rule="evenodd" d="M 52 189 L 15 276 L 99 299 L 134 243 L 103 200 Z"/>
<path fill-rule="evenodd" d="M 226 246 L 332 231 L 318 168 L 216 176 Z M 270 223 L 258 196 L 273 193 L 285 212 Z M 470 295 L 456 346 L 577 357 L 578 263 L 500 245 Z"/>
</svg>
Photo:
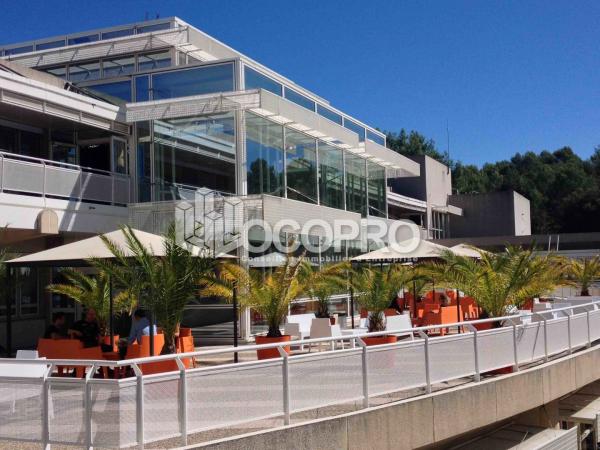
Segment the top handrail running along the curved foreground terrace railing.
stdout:
<svg viewBox="0 0 600 450">
<path fill-rule="evenodd" d="M 595 305 L 600 306 L 600 300 L 593 301 L 590 303 L 575 305 L 575 306 L 568 306 L 568 307 L 557 308 L 557 309 L 549 309 L 549 310 L 541 311 L 541 312 L 542 313 L 560 312 L 560 311 L 573 310 L 575 308 L 583 308 L 586 306 L 595 306 Z M 85 360 L 81 360 L 81 359 L 79 359 L 79 360 L 76 360 L 76 359 L 22 360 L 22 359 L 19 359 L 19 360 L 17 360 L 14 358 L 0 358 L 0 364 L 6 364 L 6 363 L 7 364 L 32 364 L 32 365 L 33 364 L 38 364 L 38 365 L 54 364 L 54 365 L 65 365 L 65 366 L 66 365 L 69 365 L 69 366 L 96 365 L 96 366 L 103 366 L 103 367 L 123 367 L 123 366 L 130 366 L 132 364 L 147 364 L 147 363 L 153 363 L 153 362 L 159 362 L 159 361 L 169 361 L 169 360 L 177 360 L 177 359 L 184 359 L 184 358 L 199 358 L 202 356 L 214 356 L 214 355 L 220 355 L 220 354 L 226 354 L 226 353 L 253 352 L 256 350 L 269 350 L 269 349 L 288 347 L 288 346 L 319 344 L 319 343 L 332 343 L 332 342 L 347 341 L 347 340 L 352 340 L 352 339 L 358 340 L 358 339 L 362 339 L 365 337 L 368 338 L 368 337 L 389 336 L 389 335 L 397 335 L 397 334 L 405 335 L 405 334 L 411 333 L 411 332 L 421 334 L 426 331 L 435 330 L 435 329 L 465 327 L 466 324 L 473 326 L 473 325 L 484 324 L 484 323 L 512 321 L 513 319 L 516 319 L 516 318 L 534 316 L 539 313 L 540 313 L 539 311 L 536 311 L 536 312 L 530 312 L 530 313 L 525 313 L 525 314 L 513 314 L 513 315 L 509 315 L 509 316 L 502 316 L 502 317 L 490 317 L 487 319 L 444 323 L 444 324 L 440 324 L 440 325 L 428 325 L 428 326 L 423 326 L 423 327 L 403 328 L 403 329 L 398 329 L 398 330 L 377 331 L 377 332 L 370 332 L 370 333 L 369 332 L 356 333 L 356 334 L 352 334 L 352 335 L 334 336 L 334 337 L 326 337 L 326 338 L 299 339 L 299 340 L 294 340 L 294 341 L 277 342 L 277 343 L 272 343 L 272 344 L 258 344 L 258 345 L 254 344 L 254 345 L 244 345 L 241 347 L 229 346 L 229 347 L 216 348 L 216 349 L 210 349 L 210 350 L 199 350 L 199 351 L 193 351 L 193 352 L 187 352 L 187 353 L 173 353 L 173 354 L 168 354 L 168 355 L 148 356 L 148 357 L 143 357 L 143 358 L 125 359 L 125 360 L 120 360 L 120 361 L 90 360 L 90 359 L 85 359 Z M 469 335 L 470 333 L 471 332 L 464 333 L 464 335 Z M 451 335 L 450 337 L 456 337 L 456 336 L 457 335 Z M 414 342 L 414 341 L 407 341 L 407 342 Z M 294 356 L 291 355 L 290 357 L 293 358 Z M 0 379 L 1 378 L 2 377 L 0 376 Z"/>
</svg>

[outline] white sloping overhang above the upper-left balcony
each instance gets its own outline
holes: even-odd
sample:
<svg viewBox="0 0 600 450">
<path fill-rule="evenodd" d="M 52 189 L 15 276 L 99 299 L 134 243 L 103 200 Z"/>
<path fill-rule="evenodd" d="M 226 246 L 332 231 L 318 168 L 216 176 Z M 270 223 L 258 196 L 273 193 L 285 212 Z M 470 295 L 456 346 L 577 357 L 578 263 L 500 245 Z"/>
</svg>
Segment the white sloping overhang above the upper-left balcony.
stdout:
<svg viewBox="0 0 600 450">
<path fill-rule="evenodd" d="M 118 133 L 129 132 L 117 106 L 9 72 L 0 71 L 0 105 Z"/>
</svg>

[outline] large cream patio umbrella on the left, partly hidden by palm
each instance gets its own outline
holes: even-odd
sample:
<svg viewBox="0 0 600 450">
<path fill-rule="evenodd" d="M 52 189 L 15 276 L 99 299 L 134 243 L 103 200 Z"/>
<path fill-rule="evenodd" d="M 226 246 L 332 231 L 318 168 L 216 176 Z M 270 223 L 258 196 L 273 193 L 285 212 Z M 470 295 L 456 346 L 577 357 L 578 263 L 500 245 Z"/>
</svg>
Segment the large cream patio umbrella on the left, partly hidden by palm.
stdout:
<svg viewBox="0 0 600 450">
<path fill-rule="evenodd" d="M 160 257 L 165 256 L 165 238 L 156 234 L 148 233 L 141 230 L 132 229 L 135 237 L 142 243 L 146 249 L 152 253 L 152 255 Z M 105 233 L 104 237 L 108 238 L 123 249 L 126 256 L 133 256 L 131 250 L 127 247 L 127 239 L 122 230 L 111 231 Z M 195 256 L 203 256 L 205 250 L 199 247 L 185 243 L 184 246 Z M 9 268 L 11 267 L 22 267 L 22 266 L 37 266 L 37 267 L 85 267 L 89 266 L 89 260 L 91 258 L 97 259 L 111 259 L 114 255 L 110 252 L 100 236 L 94 236 L 80 241 L 71 242 L 69 244 L 54 247 L 48 250 L 42 250 L 37 253 L 21 256 L 19 258 L 11 259 L 7 261 Z M 220 254 L 217 258 L 235 258 L 235 256 Z M 10 277 L 9 277 L 10 278 Z M 10 296 L 8 296 L 10 297 Z M 109 299 L 110 309 L 110 339 L 113 341 L 113 296 L 112 296 L 112 284 L 110 289 Z M 7 304 L 10 300 L 7 299 Z M 6 347 L 7 352 L 11 353 L 12 346 L 12 333 L 11 333 L 11 321 L 12 314 L 10 307 L 7 309 L 7 327 L 6 327 Z M 154 327 L 150 327 L 150 333 L 153 335 Z M 153 339 L 150 339 L 150 345 L 153 346 Z"/>
</svg>

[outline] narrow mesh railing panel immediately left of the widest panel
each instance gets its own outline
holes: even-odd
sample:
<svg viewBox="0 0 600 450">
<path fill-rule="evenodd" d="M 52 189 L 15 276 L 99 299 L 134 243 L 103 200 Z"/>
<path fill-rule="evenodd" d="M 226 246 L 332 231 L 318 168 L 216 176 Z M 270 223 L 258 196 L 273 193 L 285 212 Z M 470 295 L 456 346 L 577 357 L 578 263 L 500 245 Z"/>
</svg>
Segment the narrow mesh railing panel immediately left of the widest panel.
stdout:
<svg viewBox="0 0 600 450">
<path fill-rule="evenodd" d="M 144 379 L 144 440 L 179 434 L 179 376 Z"/>
</svg>

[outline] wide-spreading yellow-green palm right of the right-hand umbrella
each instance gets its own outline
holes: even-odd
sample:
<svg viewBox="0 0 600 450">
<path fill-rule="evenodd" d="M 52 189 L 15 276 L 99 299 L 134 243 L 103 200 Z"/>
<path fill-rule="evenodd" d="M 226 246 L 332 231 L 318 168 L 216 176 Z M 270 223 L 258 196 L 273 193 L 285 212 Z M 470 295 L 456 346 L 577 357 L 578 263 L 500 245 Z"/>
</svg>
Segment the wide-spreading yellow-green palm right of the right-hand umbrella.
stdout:
<svg viewBox="0 0 600 450">
<path fill-rule="evenodd" d="M 515 247 L 497 254 L 481 252 L 479 261 L 451 251 L 444 252 L 441 259 L 424 270 L 473 297 L 491 317 L 501 317 L 508 307 L 550 292 L 564 278 L 561 259 Z"/>
</svg>

